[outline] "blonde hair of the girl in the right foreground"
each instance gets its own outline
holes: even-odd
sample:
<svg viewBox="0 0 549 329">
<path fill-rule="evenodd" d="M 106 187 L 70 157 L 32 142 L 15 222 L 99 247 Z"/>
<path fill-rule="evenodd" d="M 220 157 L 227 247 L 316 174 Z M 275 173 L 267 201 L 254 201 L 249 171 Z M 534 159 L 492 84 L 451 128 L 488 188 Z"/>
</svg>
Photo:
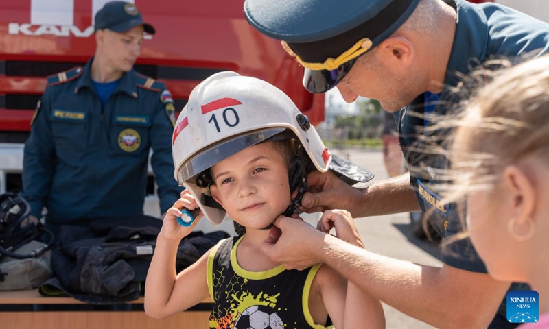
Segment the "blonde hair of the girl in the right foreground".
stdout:
<svg viewBox="0 0 549 329">
<path fill-rule="evenodd" d="M 527 156 L 549 164 L 549 55 L 516 66 L 509 60 L 498 64 L 504 69 L 477 70 L 474 80 L 491 82 L 476 88 L 458 117 L 437 124 L 453 130 L 445 148 L 448 201 L 491 190 L 506 166 Z"/>
</svg>

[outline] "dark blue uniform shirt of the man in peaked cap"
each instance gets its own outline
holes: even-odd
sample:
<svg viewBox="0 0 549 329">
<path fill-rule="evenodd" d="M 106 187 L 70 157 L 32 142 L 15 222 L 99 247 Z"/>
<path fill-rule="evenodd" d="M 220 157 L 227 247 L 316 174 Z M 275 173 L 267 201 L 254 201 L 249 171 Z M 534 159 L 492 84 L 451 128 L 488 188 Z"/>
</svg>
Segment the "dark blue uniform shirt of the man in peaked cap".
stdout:
<svg viewBox="0 0 549 329">
<path fill-rule="evenodd" d="M 471 68 L 482 64 L 491 58 L 502 56 L 520 56 L 524 53 L 535 52 L 536 55 L 547 53 L 549 49 L 549 24 L 533 19 L 526 14 L 506 8 L 496 3 L 474 5 L 464 0 L 455 0 L 458 14 L 458 23 L 452 54 L 447 66 L 445 88 L 440 95 L 441 102 L 432 112 L 445 114 L 449 106 L 456 104 L 458 95 L 452 94 L 449 87 L 457 86 L 460 77 L 467 75 Z M 441 205 L 441 197 L 429 186 L 439 183 L 436 168 L 445 168 L 447 160 L 443 156 L 426 156 L 421 151 L 423 140 L 417 138 L 422 130 L 424 120 L 414 115 L 408 115 L 408 110 L 423 112 L 425 95 L 420 95 L 412 104 L 395 113 L 399 126 L 401 144 L 406 161 L 412 167 L 422 167 L 427 164 L 434 170 L 421 173 L 412 173 L 411 184 L 416 191 L 417 199 L 423 210 L 432 216 L 432 223 L 445 239 L 462 231 L 461 221 L 456 205 Z M 430 132 L 432 134 L 432 132 Z M 428 136 L 425 136 L 428 140 Z M 486 267 L 471 245 L 469 239 L 458 240 L 443 248 L 442 260 L 448 265 L 486 273 Z"/>
</svg>

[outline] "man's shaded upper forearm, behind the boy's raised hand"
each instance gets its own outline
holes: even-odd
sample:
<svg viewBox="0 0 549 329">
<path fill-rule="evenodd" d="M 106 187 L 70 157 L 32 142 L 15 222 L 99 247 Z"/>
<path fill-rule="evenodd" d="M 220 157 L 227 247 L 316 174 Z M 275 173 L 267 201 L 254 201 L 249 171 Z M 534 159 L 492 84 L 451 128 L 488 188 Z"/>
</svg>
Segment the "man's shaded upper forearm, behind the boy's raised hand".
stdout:
<svg viewBox="0 0 549 329">
<path fill-rule="evenodd" d="M 369 217 L 399 212 L 419 211 L 419 205 L 410 186 L 410 174 L 404 173 L 395 178 L 376 182 L 363 193 L 363 206 L 353 217 Z"/>
</svg>

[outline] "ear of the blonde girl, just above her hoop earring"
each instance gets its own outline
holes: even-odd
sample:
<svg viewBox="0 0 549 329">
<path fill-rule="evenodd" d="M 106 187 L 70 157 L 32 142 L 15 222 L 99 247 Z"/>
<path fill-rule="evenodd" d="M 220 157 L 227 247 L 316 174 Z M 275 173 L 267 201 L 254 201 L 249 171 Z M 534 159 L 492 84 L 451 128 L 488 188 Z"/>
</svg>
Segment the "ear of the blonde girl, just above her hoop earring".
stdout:
<svg viewBox="0 0 549 329">
<path fill-rule="evenodd" d="M 504 171 L 504 184 L 511 193 L 511 208 L 518 223 L 533 219 L 535 210 L 535 188 L 524 170 L 508 166 Z"/>
</svg>

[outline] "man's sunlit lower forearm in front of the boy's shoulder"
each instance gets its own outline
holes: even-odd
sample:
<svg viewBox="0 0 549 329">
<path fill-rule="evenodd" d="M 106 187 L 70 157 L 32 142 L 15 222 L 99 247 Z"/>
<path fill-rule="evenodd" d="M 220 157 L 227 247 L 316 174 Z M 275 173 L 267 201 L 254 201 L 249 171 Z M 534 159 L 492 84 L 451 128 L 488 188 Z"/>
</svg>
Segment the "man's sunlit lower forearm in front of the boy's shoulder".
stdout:
<svg viewBox="0 0 549 329">
<path fill-rule="evenodd" d="M 373 297 L 437 328 L 485 328 L 509 287 L 487 274 L 388 258 L 333 236 L 324 242 L 323 263 Z"/>
</svg>

